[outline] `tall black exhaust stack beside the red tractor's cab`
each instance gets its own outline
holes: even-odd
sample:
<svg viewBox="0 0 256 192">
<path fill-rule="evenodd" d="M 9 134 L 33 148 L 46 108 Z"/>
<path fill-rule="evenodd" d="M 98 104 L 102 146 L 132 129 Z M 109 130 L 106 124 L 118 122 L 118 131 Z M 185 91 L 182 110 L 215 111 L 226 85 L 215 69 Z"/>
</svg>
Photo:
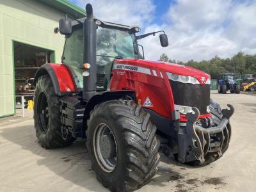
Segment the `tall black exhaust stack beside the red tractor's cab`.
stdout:
<svg viewBox="0 0 256 192">
<path fill-rule="evenodd" d="M 97 66 L 96 66 L 96 33 L 97 24 L 93 20 L 92 4 L 88 3 L 85 7 L 86 21 L 84 22 L 84 63 L 89 63 L 89 76 L 84 76 L 83 99 L 90 100 L 95 95 L 97 83 Z"/>
</svg>

